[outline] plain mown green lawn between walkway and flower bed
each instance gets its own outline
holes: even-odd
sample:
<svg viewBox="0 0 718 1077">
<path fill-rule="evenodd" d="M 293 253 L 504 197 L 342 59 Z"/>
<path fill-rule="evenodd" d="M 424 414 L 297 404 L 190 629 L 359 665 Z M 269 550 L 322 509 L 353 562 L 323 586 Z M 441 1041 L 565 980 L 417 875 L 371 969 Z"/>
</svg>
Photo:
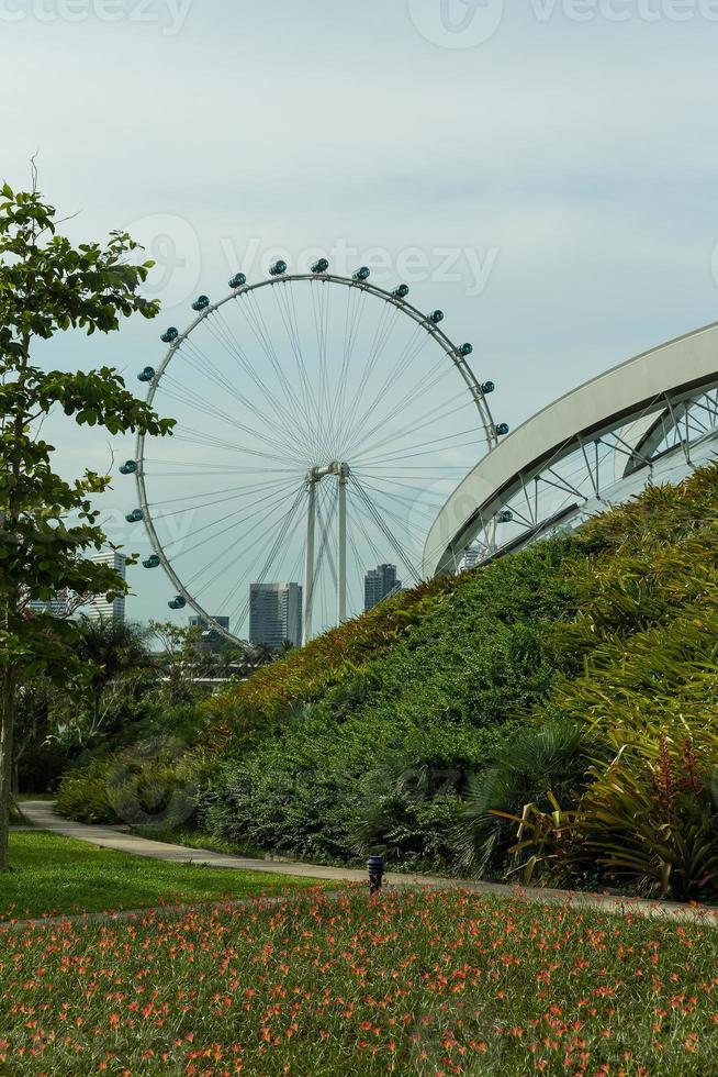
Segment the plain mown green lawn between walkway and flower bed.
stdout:
<svg viewBox="0 0 718 1077">
<path fill-rule="evenodd" d="M 10 855 L 14 870 L 0 875 L 0 921 L 221 901 L 319 885 L 265 871 L 164 864 L 42 831 L 11 831 Z"/>
</svg>

